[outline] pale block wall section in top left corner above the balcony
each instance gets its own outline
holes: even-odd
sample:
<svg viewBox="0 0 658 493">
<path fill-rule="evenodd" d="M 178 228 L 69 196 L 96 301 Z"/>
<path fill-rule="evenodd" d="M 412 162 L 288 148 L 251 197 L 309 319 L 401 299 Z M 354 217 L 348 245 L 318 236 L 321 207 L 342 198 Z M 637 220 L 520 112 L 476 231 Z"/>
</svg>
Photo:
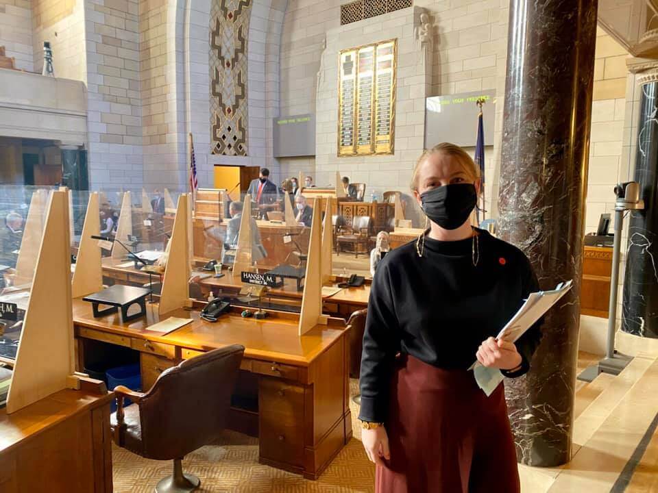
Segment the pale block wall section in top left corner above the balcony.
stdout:
<svg viewBox="0 0 658 493">
<path fill-rule="evenodd" d="M 30 0 L 0 0 L 0 46 L 5 56 L 16 59 L 16 68 L 34 71 Z"/>
</svg>

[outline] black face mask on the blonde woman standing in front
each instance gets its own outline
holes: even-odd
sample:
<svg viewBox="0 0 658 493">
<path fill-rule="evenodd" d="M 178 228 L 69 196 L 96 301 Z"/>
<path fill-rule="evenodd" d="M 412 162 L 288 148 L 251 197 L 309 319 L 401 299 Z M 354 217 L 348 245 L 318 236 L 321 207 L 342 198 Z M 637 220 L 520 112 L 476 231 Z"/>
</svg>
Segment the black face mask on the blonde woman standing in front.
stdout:
<svg viewBox="0 0 658 493">
<path fill-rule="evenodd" d="M 478 201 L 474 184 L 432 188 L 420 196 L 423 212 L 443 229 L 457 229 L 466 222 Z"/>
</svg>

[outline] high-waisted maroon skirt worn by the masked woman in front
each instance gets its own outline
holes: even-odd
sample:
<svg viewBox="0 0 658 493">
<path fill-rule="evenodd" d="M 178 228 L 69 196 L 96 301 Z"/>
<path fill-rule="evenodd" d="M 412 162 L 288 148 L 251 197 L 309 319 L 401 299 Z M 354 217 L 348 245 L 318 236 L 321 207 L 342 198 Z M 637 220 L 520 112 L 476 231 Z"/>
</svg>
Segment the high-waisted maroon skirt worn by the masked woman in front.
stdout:
<svg viewBox="0 0 658 493">
<path fill-rule="evenodd" d="M 473 372 L 402 356 L 385 423 L 391 459 L 377 466 L 378 493 L 519 493 L 503 385 L 487 397 Z"/>
</svg>

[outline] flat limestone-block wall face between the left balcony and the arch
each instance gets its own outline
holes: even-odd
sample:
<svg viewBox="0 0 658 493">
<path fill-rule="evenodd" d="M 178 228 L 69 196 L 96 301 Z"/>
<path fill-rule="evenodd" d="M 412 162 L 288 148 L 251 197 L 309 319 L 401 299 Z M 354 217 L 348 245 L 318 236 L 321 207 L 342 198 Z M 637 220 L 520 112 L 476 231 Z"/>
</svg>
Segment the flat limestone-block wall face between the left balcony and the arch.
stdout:
<svg viewBox="0 0 658 493">
<path fill-rule="evenodd" d="M 138 0 L 86 0 L 90 184 L 143 183 Z"/>
</svg>

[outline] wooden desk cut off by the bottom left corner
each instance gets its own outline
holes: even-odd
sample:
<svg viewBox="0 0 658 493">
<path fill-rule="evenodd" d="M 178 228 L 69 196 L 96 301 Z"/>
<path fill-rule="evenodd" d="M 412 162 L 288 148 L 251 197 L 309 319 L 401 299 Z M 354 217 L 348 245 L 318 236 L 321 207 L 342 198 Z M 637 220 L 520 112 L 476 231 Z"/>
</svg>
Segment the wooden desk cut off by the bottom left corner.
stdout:
<svg viewBox="0 0 658 493">
<path fill-rule="evenodd" d="M 67 389 L 0 409 L 0 492 L 112 493 L 113 397 Z"/>
</svg>

